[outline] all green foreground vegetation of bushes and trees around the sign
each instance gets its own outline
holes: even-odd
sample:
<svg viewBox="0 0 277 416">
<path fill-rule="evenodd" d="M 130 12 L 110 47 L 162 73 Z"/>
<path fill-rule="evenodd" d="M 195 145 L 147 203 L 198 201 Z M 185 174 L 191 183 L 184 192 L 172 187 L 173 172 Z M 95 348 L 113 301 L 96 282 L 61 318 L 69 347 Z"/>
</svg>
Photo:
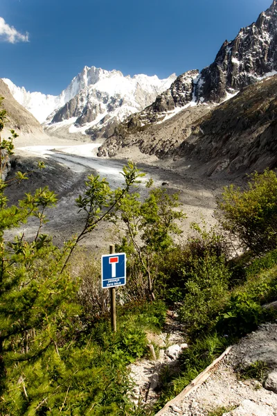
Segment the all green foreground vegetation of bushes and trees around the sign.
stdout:
<svg viewBox="0 0 277 416">
<path fill-rule="evenodd" d="M 5 118 L 0 112 L 0 130 Z M 13 138 L 15 132 L 1 140 L 1 157 L 12 153 Z M 19 173 L 16 180 L 25 177 Z M 148 182 L 148 197 L 141 200 L 136 166 L 125 166 L 123 177 L 125 185 L 111 191 L 107 180 L 89 175 L 76 199 L 83 227 L 62 248 L 43 234 L 55 193 L 37 189 L 9 207 L 9 182 L 1 180 L 1 415 L 150 415 L 151 409 L 131 400 L 127 365 L 148 356 L 146 331 L 163 328 L 168 307 L 179 308 L 190 347 L 181 356 L 179 374 L 164 370 L 157 408 L 227 345 L 259 322 L 276 318 L 262 308 L 277 297 L 274 172 L 253 175 L 244 191 L 226 188 L 218 202 L 222 231 L 193 224 L 194 234 L 183 245 L 174 238 L 186 218 L 178 195 Z M 33 239 L 22 234 L 7 241 L 5 230 L 30 217 L 37 221 Z M 118 227 L 118 250 L 128 258 L 127 285 L 117 291 L 116 333 L 109 325 L 99 264 L 77 247 L 102 220 Z M 230 235 L 244 247 L 235 259 L 230 258 Z"/>
</svg>

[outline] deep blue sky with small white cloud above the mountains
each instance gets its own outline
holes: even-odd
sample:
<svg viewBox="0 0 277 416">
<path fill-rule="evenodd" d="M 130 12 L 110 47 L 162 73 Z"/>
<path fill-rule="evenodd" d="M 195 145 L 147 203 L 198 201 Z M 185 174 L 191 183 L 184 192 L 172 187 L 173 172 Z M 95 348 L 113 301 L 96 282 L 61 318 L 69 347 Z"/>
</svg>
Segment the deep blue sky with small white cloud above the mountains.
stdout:
<svg viewBox="0 0 277 416">
<path fill-rule="evenodd" d="M 87 65 L 124 75 L 202 69 L 272 0 L 0 0 L 0 77 L 60 94 Z"/>
</svg>

